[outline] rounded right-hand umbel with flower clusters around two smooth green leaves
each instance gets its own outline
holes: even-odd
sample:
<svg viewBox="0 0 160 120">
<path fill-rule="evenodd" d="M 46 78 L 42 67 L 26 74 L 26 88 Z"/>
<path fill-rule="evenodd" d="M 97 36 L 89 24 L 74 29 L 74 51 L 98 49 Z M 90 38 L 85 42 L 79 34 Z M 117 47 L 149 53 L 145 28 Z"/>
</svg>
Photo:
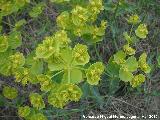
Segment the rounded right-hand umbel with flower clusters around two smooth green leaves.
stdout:
<svg viewBox="0 0 160 120">
<path fill-rule="evenodd" d="M 123 46 L 124 51 L 118 51 L 109 61 L 110 71 L 117 72 L 120 80 L 124 82 L 130 82 L 132 87 L 137 87 L 145 81 L 143 74 L 135 74 L 137 69 L 140 68 L 145 73 L 150 72 L 150 67 L 146 62 L 147 54 L 143 53 L 137 61 L 134 57 L 135 50 L 129 46 L 129 44 Z M 113 69 L 113 67 L 117 67 Z M 117 75 L 117 76 L 118 76 Z"/>
</svg>

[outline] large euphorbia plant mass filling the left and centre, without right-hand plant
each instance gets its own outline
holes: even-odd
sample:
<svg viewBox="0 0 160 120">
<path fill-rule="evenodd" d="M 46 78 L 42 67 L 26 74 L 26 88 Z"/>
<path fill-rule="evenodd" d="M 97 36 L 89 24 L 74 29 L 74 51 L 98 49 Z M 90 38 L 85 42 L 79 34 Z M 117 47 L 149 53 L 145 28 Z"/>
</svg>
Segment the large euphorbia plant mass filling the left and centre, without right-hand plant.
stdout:
<svg viewBox="0 0 160 120">
<path fill-rule="evenodd" d="M 31 17 L 39 15 L 37 9 L 41 9 L 43 4 L 39 5 L 29 13 Z M 57 17 L 58 30 L 53 35 L 45 37 L 28 56 L 16 50 L 21 44 L 19 25 L 16 24 L 18 27 L 9 35 L 1 36 L 0 55 L 4 59 L 1 60 L 0 73 L 14 76 L 15 82 L 23 86 L 40 85 L 40 93 L 29 93 L 31 107 L 18 106 L 20 117 L 34 120 L 38 116 L 38 119 L 47 119 L 41 113 L 46 107 L 44 98 L 47 98 L 53 107 L 64 108 L 70 101 L 80 100 L 83 93 L 79 83 L 84 80 L 91 85 L 99 83 L 105 68 L 103 63 L 89 65 L 87 45 L 78 43 L 73 46 L 69 36 L 82 37 L 89 43 L 101 41 L 105 34 L 106 22 L 102 21 L 98 26 L 95 24 L 101 10 L 103 5 L 99 0 L 88 1 L 87 6 L 76 5 L 72 10 L 62 12 Z M 20 21 L 19 24 L 21 23 L 24 22 Z M 11 39 L 11 36 L 14 39 Z M 61 76 L 61 79 L 55 80 L 57 76 Z M 3 94 L 8 99 L 15 99 L 18 91 L 5 86 Z"/>
</svg>

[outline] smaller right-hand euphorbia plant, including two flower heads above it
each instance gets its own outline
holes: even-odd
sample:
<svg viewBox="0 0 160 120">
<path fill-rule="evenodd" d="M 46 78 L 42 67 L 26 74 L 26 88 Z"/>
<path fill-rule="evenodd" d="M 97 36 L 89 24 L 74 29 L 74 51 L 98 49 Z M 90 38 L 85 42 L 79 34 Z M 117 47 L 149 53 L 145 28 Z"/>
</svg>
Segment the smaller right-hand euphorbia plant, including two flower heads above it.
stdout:
<svg viewBox="0 0 160 120">
<path fill-rule="evenodd" d="M 132 87 L 138 87 L 145 81 L 145 74 L 150 73 L 151 68 L 146 61 L 147 54 L 144 52 L 137 60 L 135 57 L 136 50 L 132 46 L 138 41 L 137 39 L 146 38 L 148 30 L 145 24 L 140 23 L 138 15 L 130 16 L 127 21 L 132 24 L 130 35 L 124 32 L 126 44 L 122 50 L 119 50 L 110 58 L 107 71 L 112 77 L 129 82 Z M 137 24 L 139 25 L 134 34 L 132 33 L 133 27 L 136 27 Z"/>
</svg>

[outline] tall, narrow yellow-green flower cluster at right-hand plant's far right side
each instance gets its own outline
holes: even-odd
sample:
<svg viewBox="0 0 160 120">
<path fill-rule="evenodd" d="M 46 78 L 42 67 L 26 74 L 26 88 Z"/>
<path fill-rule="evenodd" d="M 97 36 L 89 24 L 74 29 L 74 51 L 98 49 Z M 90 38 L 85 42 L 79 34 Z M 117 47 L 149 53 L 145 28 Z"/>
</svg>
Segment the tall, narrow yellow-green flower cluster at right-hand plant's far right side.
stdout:
<svg viewBox="0 0 160 120">
<path fill-rule="evenodd" d="M 151 71 L 150 66 L 147 64 L 146 62 L 147 59 L 147 54 L 143 53 L 140 57 L 139 57 L 139 61 L 138 61 L 138 65 L 140 67 L 140 69 L 142 71 L 144 71 L 145 73 L 149 73 Z"/>
</svg>

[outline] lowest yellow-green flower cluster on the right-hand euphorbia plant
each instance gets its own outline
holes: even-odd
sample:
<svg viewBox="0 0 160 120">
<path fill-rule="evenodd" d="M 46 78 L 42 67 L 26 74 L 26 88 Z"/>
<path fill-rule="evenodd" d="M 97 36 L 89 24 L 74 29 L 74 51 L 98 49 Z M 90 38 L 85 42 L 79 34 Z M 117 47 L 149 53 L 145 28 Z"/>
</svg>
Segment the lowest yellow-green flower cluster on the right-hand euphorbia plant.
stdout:
<svg viewBox="0 0 160 120">
<path fill-rule="evenodd" d="M 139 74 L 139 75 L 134 76 L 130 84 L 132 87 L 137 87 L 141 85 L 144 81 L 145 81 L 145 76 L 143 74 Z"/>
</svg>

